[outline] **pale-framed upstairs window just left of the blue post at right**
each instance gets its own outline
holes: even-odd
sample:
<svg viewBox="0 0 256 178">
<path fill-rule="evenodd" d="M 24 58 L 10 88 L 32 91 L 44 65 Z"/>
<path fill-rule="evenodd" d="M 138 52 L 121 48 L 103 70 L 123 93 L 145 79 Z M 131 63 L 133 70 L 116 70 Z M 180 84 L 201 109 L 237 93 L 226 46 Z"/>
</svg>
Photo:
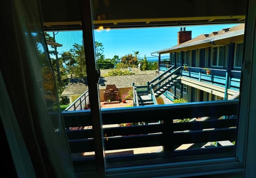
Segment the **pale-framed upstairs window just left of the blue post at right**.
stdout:
<svg viewBox="0 0 256 178">
<path fill-rule="evenodd" d="M 226 46 L 212 48 L 212 66 L 224 67 L 226 60 Z"/>
</svg>

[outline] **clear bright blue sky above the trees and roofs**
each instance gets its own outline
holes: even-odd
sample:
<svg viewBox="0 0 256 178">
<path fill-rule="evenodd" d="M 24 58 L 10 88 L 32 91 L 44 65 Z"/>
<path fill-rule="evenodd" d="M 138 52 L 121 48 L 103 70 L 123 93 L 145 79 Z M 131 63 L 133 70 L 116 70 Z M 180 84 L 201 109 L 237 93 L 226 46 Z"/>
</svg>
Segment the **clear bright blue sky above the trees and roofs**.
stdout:
<svg viewBox="0 0 256 178">
<path fill-rule="evenodd" d="M 134 51 L 139 51 L 138 56 L 143 59 L 145 55 L 150 57 L 151 52 L 177 45 L 180 27 L 192 30 L 194 38 L 236 25 L 238 24 L 94 30 L 94 39 L 103 44 L 106 59 L 113 58 L 114 55 L 121 58 Z M 52 36 L 51 32 L 47 33 Z M 74 43 L 82 44 L 82 31 L 60 31 L 55 38 L 57 43 L 62 44 L 62 47 L 58 47 L 58 52 L 63 53 L 69 51 Z"/>
</svg>

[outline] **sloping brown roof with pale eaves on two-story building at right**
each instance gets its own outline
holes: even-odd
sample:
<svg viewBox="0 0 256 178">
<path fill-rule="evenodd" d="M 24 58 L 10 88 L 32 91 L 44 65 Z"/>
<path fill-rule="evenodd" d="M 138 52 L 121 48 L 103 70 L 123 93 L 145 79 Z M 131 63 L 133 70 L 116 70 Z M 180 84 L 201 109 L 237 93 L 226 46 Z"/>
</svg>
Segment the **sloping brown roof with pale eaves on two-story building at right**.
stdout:
<svg viewBox="0 0 256 178">
<path fill-rule="evenodd" d="M 223 43 L 223 42 L 225 42 L 225 39 L 227 39 L 227 38 L 231 39 L 231 38 L 237 37 L 236 41 L 243 40 L 242 36 L 244 35 L 244 23 L 234 26 L 234 27 L 227 28 L 227 29 L 228 29 L 227 31 L 222 29 L 219 31 L 214 31 L 211 34 L 202 34 L 193 39 L 190 39 L 187 42 L 181 43 L 179 45 L 175 45 L 170 48 L 165 48 L 163 50 L 159 50 L 159 51 L 153 52 L 151 54 L 154 54 L 154 53 L 159 53 L 159 54 L 162 53 L 163 54 L 163 53 L 167 53 L 167 52 L 169 53 L 169 52 L 182 51 L 182 50 L 184 50 L 184 48 L 192 49 L 193 47 L 194 48 L 209 47 L 209 46 L 213 46 L 216 44 L 220 44 L 221 41 Z M 241 36 L 241 37 L 239 37 L 239 36 Z M 230 41 L 230 42 L 234 43 L 236 41 Z M 220 43 L 218 43 L 218 42 L 220 42 Z M 223 44 L 225 44 L 225 43 L 223 43 Z"/>
</svg>

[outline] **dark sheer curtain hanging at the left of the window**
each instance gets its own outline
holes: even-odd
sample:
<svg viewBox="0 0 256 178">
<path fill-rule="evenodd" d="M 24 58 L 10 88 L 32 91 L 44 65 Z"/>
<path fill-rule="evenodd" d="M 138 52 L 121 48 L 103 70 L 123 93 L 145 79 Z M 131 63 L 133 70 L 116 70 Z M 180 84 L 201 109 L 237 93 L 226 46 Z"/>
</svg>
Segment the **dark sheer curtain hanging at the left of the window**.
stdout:
<svg viewBox="0 0 256 178">
<path fill-rule="evenodd" d="M 39 2 L 1 2 L 1 24 L 0 116 L 17 174 L 75 177 Z"/>
</svg>

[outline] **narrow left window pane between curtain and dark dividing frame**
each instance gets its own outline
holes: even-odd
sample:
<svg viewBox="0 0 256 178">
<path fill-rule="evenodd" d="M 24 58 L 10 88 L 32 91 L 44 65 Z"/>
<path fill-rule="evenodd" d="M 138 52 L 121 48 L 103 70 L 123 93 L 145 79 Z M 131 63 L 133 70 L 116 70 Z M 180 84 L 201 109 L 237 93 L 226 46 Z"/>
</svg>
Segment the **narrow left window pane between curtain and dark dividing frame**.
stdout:
<svg viewBox="0 0 256 178">
<path fill-rule="evenodd" d="M 71 156 L 73 159 L 87 160 L 83 171 L 93 171 L 96 169 L 96 165 L 92 120 L 89 117 L 89 87 L 82 30 L 45 31 L 45 34 L 54 74 L 57 78 L 60 76 L 61 80 L 58 85 L 58 94 L 70 141 Z M 66 120 L 65 112 L 74 110 L 85 111 L 87 117 L 84 118 L 83 124 L 81 120 L 75 124 Z M 74 116 L 72 119 L 75 118 Z M 86 135 L 79 135 L 78 132 L 86 133 Z M 86 147 L 82 147 L 82 145 L 75 147 L 75 140 L 77 139 L 84 139 Z"/>
</svg>

